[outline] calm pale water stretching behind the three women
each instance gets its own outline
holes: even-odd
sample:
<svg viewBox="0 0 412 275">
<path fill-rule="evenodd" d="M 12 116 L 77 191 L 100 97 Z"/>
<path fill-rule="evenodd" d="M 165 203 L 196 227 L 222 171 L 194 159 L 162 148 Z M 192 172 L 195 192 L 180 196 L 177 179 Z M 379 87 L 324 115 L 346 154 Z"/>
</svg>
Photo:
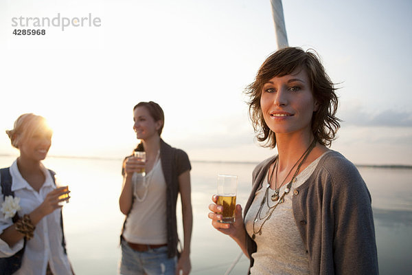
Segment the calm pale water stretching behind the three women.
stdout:
<svg viewBox="0 0 412 275">
<path fill-rule="evenodd" d="M 13 160 L 0 157 L 0 167 L 10 166 Z M 67 250 L 76 274 L 116 274 L 124 221 L 117 203 L 122 186 L 121 159 L 49 157 L 44 163 L 67 181 L 71 190 L 71 201 L 63 212 Z M 234 241 L 211 227 L 207 206 L 216 192 L 218 173 L 239 176 L 238 203 L 244 206 L 254 166 L 192 162 L 192 274 L 225 274 L 240 254 Z M 372 195 L 380 274 L 412 274 L 412 169 L 359 170 Z M 231 274 L 246 274 L 248 266 L 242 256 Z"/>
</svg>

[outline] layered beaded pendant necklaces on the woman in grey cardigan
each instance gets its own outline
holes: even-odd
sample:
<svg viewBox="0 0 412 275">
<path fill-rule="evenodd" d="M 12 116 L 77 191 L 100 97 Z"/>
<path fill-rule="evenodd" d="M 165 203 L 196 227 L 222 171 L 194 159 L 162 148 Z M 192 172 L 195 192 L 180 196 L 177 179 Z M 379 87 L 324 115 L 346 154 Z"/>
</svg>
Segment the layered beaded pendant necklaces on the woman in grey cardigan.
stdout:
<svg viewBox="0 0 412 275">
<path fill-rule="evenodd" d="M 299 170 L 302 166 L 302 164 L 305 162 L 306 158 L 308 157 L 308 155 L 310 154 L 310 152 L 312 151 L 312 149 L 314 148 L 314 146 L 316 145 L 316 139 L 314 139 L 312 141 L 312 143 L 310 143 L 309 147 L 306 149 L 306 151 L 301 155 L 301 157 L 299 157 L 299 159 L 297 159 L 297 162 L 295 163 L 295 165 L 293 165 L 293 167 L 289 170 L 288 175 L 286 175 L 286 177 L 284 178 L 284 180 L 282 181 L 282 184 L 280 184 L 279 186 L 277 186 L 277 167 L 279 166 L 279 157 L 276 157 L 275 161 L 273 162 L 273 168 L 272 168 L 272 173 L 269 177 L 268 175 L 268 184 L 266 185 L 266 190 L 264 192 L 264 196 L 262 201 L 260 202 L 260 207 L 258 212 L 256 212 L 256 216 L 255 219 L 253 219 L 253 235 L 252 235 L 252 239 L 255 239 L 256 234 L 262 235 L 262 227 L 264 225 L 264 223 L 266 223 L 266 221 L 268 221 L 268 219 L 271 219 L 272 217 L 272 213 L 275 210 L 275 208 L 277 207 L 277 205 L 279 205 L 279 203 L 284 202 L 284 197 L 285 195 L 288 194 L 288 192 L 290 192 L 290 187 L 292 187 L 293 182 L 296 181 L 296 176 L 299 173 Z M 282 195 L 279 195 L 279 190 L 280 188 L 284 185 L 286 179 L 289 177 L 290 173 L 292 173 L 293 169 L 296 168 L 295 173 L 293 174 L 292 179 L 290 179 L 288 185 L 286 185 L 286 188 L 283 192 Z M 271 201 L 274 201 L 275 204 L 273 206 L 269 205 L 269 187 L 271 186 L 271 182 L 273 180 L 273 172 L 275 171 L 275 192 L 273 193 L 273 195 L 271 196 Z M 266 205 L 268 206 L 268 210 L 266 211 L 266 214 L 262 213 L 262 209 L 263 206 L 266 202 Z M 263 221 L 262 221 L 263 220 Z M 257 223 L 258 221 L 262 221 L 262 224 L 260 225 L 260 228 L 258 231 L 255 230 L 255 223 Z"/>
</svg>

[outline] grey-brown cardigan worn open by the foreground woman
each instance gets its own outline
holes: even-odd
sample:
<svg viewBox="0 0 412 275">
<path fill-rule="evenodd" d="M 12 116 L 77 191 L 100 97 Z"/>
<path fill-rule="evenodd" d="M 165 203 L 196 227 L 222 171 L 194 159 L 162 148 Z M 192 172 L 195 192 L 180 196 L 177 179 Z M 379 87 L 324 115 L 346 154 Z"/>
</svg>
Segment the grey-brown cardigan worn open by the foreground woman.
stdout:
<svg viewBox="0 0 412 275">
<path fill-rule="evenodd" d="M 253 170 L 249 210 L 270 157 Z M 336 151 L 320 160 L 308 180 L 293 188 L 293 214 L 304 241 L 310 274 L 379 274 L 371 196 L 358 170 Z M 250 267 L 256 243 L 247 234 Z"/>
</svg>

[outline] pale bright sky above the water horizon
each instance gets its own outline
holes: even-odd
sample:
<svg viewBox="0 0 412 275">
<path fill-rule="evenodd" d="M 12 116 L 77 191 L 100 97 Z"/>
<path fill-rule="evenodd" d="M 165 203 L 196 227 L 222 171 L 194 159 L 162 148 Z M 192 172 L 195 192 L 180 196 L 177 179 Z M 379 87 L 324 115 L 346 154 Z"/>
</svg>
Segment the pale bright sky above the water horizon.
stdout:
<svg viewBox="0 0 412 275">
<path fill-rule="evenodd" d="M 355 164 L 412 165 L 412 2 L 283 8 L 289 45 L 316 50 L 339 87 L 332 149 Z M 30 28 L 45 35 L 13 34 Z M 36 113 L 54 129 L 49 155 L 122 158 L 137 144 L 133 107 L 148 100 L 165 111 L 163 139 L 192 160 L 275 153 L 255 141 L 242 94 L 277 50 L 269 0 L 2 0 L 0 42 L 0 154 L 19 153 L 4 131 Z"/>
</svg>

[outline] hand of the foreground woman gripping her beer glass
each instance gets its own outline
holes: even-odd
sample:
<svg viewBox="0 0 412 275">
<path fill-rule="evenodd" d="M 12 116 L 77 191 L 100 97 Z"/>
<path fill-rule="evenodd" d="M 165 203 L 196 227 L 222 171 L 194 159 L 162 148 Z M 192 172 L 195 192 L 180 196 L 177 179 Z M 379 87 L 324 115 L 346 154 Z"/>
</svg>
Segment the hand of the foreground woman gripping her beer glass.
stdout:
<svg viewBox="0 0 412 275">
<path fill-rule="evenodd" d="M 209 210 L 211 212 L 207 214 L 207 217 L 211 219 L 211 225 L 216 228 L 216 230 L 231 236 L 233 239 L 244 235 L 244 224 L 242 218 L 242 206 L 240 204 L 236 205 L 235 212 L 235 222 L 234 223 L 220 223 L 222 220 L 223 206 L 216 204 L 218 202 L 218 195 L 213 195 L 211 200 L 214 203 L 209 204 Z"/>
</svg>

